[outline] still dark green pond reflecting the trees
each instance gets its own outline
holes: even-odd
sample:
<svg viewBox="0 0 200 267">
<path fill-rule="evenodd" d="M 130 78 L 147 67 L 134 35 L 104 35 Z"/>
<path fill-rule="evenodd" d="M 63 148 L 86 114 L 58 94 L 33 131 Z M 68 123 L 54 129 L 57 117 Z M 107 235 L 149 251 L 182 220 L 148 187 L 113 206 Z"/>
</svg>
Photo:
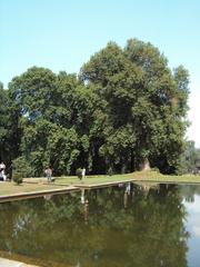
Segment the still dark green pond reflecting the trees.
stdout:
<svg viewBox="0 0 200 267">
<path fill-rule="evenodd" d="M 0 204 L 0 257 L 48 267 L 199 267 L 200 186 L 120 185 Z"/>
</svg>

